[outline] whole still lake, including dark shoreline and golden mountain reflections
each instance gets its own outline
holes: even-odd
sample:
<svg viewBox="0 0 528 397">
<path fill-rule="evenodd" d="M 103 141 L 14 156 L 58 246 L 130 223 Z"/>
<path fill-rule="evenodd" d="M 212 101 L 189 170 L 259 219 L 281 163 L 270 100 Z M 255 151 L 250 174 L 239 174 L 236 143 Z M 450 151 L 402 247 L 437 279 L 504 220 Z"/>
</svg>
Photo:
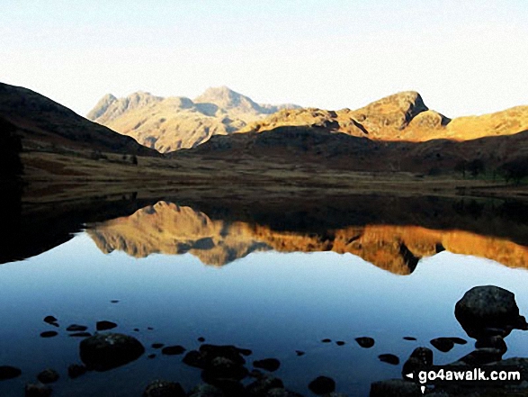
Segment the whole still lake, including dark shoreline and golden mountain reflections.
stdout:
<svg viewBox="0 0 528 397">
<path fill-rule="evenodd" d="M 31 216 L 13 221 L 18 230 L 0 255 L 0 365 L 22 375 L 0 382 L 0 395 L 23 395 L 46 368 L 60 374 L 54 396 L 140 396 L 156 379 L 189 391 L 201 370 L 152 344 L 190 351 L 204 338 L 250 349 L 249 370 L 255 360 L 278 359 L 273 375 L 291 391 L 315 395 L 308 385 L 325 375 L 336 392 L 362 396 L 372 382 L 400 378 L 416 347 L 432 348 L 438 365 L 472 351 L 454 305 L 475 285 L 506 288 L 528 314 L 523 203 L 353 197 L 318 211 L 295 203 L 264 211 L 123 200 L 138 208 L 117 202 L 116 212 L 92 205 L 40 217 L 24 209 Z M 49 315 L 58 327 L 43 321 Z M 69 379 L 68 365 L 82 364 L 82 338 L 67 326 L 94 333 L 101 320 L 137 338 L 145 353 Z M 58 335 L 41 338 L 44 331 Z M 359 337 L 374 346 L 361 347 Z M 469 343 L 443 353 L 430 344 L 438 337 Z M 504 357 L 528 356 L 527 338 L 514 330 Z M 382 354 L 399 364 L 381 362 Z"/>
</svg>

